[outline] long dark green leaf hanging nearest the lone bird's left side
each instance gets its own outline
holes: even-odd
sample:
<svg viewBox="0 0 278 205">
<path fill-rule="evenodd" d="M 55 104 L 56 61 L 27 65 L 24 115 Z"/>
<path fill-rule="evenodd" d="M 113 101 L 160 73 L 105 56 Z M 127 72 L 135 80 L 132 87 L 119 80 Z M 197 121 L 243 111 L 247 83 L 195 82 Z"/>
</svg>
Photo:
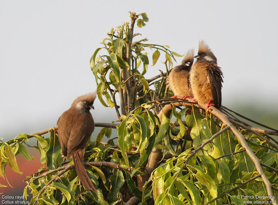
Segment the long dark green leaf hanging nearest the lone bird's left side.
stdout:
<svg viewBox="0 0 278 205">
<path fill-rule="evenodd" d="M 49 148 L 46 152 L 48 170 L 56 169 L 56 159 L 60 149 L 61 149 L 61 145 L 59 143 L 58 137 L 55 134 L 54 130 L 51 130 Z"/>
</svg>

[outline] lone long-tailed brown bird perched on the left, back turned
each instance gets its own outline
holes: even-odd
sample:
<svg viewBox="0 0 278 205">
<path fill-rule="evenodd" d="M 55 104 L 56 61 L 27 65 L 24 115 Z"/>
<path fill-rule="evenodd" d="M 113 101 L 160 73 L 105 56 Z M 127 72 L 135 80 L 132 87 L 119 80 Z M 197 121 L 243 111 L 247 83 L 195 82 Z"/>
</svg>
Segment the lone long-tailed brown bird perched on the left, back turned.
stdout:
<svg viewBox="0 0 278 205">
<path fill-rule="evenodd" d="M 65 111 L 58 119 L 58 137 L 66 158 L 72 157 L 76 173 L 86 190 L 96 192 L 84 165 L 84 153 L 87 142 L 95 129 L 94 119 L 90 109 L 96 93 L 79 96 L 74 100 L 70 109 Z"/>
</svg>

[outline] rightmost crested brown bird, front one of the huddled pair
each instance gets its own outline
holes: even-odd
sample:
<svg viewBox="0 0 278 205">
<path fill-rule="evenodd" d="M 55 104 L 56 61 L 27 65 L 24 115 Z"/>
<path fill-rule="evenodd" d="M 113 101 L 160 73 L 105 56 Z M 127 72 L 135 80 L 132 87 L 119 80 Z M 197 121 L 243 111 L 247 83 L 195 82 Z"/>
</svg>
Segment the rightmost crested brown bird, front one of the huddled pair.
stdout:
<svg viewBox="0 0 278 205">
<path fill-rule="evenodd" d="M 190 84 L 192 94 L 198 102 L 209 106 L 221 107 L 222 72 L 217 66 L 217 59 L 207 44 L 199 42 L 198 55 L 194 56 L 196 62 L 190 71 Z M 213 104 L 210 104 L 213 102 Z"/>
</svg>

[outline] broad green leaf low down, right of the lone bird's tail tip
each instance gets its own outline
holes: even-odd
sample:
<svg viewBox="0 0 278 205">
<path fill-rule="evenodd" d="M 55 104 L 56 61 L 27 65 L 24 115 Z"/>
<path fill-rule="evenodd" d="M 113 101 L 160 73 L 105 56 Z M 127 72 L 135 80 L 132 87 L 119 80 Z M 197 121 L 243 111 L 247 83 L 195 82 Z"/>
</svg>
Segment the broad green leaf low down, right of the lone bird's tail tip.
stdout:
<svg viewBox="0 0 278 205">
<path fill-rule="evenodd" d="M 120 188 L 124 185 L 124 175 L 120 169 L 114 169 L 113 175 L 110 176 L 111 187 L 107 198 L 110 202 L 118 200 Z"/>
</svg>

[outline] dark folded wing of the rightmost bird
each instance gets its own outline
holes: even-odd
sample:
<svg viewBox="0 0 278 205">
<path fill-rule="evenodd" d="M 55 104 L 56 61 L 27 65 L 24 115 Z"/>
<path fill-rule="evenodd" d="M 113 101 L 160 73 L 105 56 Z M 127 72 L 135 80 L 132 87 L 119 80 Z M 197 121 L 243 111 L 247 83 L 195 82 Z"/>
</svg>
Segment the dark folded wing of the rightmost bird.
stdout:
<svg viewBox="0 0 278 205">
<path fill-rule="evenodd" d="M 207 67 L 206 75 L 207 75 L 208 82 L 211 87 L 214 107 L 220 108 L 221 101 L 222 101 L 221 88 L 222 88 L 222 82 L 223 82 L 223 79 L 222 79 L 223 74 L 220 70 L 220 67 L 212 64 L 211 66 Z"/>
</svg>

